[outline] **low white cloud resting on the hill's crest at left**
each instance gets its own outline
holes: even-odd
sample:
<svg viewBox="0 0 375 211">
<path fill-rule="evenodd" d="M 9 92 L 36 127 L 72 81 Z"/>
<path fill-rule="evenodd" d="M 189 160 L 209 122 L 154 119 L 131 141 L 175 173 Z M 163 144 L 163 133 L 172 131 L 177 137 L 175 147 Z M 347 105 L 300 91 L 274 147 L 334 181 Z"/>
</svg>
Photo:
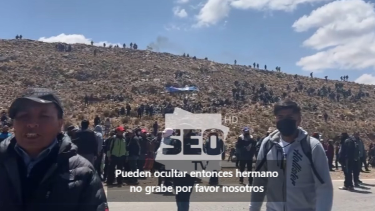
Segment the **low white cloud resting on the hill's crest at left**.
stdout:
<svg viewBox="0 0 375 211">
<path fill-rule="evenodd" d="M 51 36 L 49 38 L 41 37 L 38 40 L 42 41 L 42 42 L 65 42 L 67 44 L 81 43 L 81 44 L 87 44 L 87 45 L 91 45 L 91 41 L 92 41 L 92 39 L 90 39 L 90 38 L 86 38 L 83 35 L 76 35 L 76 34 L 73 34 L 73 35 L 60 34 L 60 35 L 57 35 L 57 36 Z M 111 43 L 111 42 L 107 42 L 107 41 L 94 42 L 94 45 L 103 46 L 104 43 L 107 46 L 109 46 L 109 45 L 121 45 L 119 43 Z"/>
</svg>

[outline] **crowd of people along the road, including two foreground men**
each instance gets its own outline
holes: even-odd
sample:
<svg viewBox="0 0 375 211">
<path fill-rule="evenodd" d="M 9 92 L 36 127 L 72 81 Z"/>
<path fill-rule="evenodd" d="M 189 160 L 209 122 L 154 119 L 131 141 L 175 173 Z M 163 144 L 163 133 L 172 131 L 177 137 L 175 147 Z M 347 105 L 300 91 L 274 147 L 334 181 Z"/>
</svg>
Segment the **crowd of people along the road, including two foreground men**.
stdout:
<svg viewBox="0 0 375 211">
<path fill-rule="evenodd" d="M 267 187 L 265 192 L 251 194 L 250 211 L 260 210 L 266 194 L 267 207 L 281 210 L 280 204 L 274 201 L 277 201 L 279 190 L 285 187 L 287 200 L 283 206 L 288 209 L 330 211 L 333 201 L 330 171 L 335 155 L 345 175 L 341 189 L 360 187 L 362 163 L 365 163 L 365 171 L 369 171 L 368 156 L 369 163 L 374 166 L 375 149 L 371 145 L 366 153 L 359 132 L 353 136 L 342 133 L 339 143 L 326 142 L 319 133 L 310 135 L 300 127 L 301 108 L 290 99 L 276 102 L 273 113 L 276 128 L 269 128 L 263 138 L 254 138 L 251 128 L 245 127 L 236 147 L 229 149 L 229 160 L 236 155 L 236 166 L 241 172 L 279 173 L 274 179 L 248 178 L 248 185 Z M 4 210 L 108 210 L 102 182 L 107 185 L 116 182 L 118 186 L 124 182 L 138 184 L 136 177 L 115 178 L 115 170 L 168 171 L 163 164 L 154 161 L 161 150 L 160 143 L 174 145 L 175 148 L 162 149 L 173 154 L 181 149 L 181 142 L 172 136 L 183 132 L 184 143 L 192 143 L 191 137 L 198 133 L 172 128 L 160 130 L 157 122 L 152 131 L 122 126 L 110 130 L 99 116 L 94 119 L 93 130 L 90 121 L 84 120 L 80 127 L 71 125 L 62 132 L 63 114 L 58 97 L 44 88 L 28 88 L 23 97 L 12 102 L 9 116 L 3 114 L 0 202 Z M 13 120 L 14 134 L 8 132 L 7 118 Z M 218 143 L 215 149 L 208 147 L 212 140 Z M 204 151 L 216 155 L 224 150 L 221 134 L 214 129 L 209 131 Z M 255 169 L 253 160 L 256 160 Z M 336 170 L 339 168 L 337 163 Z M 157 185 L 191 187 L 196 180 L 189 175 L 165 178 L 164 182 L 159 178 Z M 243 183 L 244 178 L 240 177 L 239 182 Z M 209 184 L 219 184 L 219 178 L 210 178 Z M 306 191 L 312 197 L 301 199 L 299 195 Z M 178 211 L 189 210 L 190 194 L 191 191 L 176 194 Z"/>
</svg>

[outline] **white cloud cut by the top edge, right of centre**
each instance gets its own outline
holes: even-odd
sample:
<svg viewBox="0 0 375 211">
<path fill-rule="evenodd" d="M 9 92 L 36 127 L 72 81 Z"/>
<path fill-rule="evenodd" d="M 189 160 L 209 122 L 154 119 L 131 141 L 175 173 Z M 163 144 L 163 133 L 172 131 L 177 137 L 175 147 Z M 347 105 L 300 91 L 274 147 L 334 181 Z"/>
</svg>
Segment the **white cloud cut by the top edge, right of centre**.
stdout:
<svg viewBox="0 0 375 211">
<path fill-rule="evenodd" d="M 207 0 L 196 16 L 196 27 L 215 25 L 228 17 L 231 8 L 292 11 L 300 4 L 332 0 Z"/>
</svg>

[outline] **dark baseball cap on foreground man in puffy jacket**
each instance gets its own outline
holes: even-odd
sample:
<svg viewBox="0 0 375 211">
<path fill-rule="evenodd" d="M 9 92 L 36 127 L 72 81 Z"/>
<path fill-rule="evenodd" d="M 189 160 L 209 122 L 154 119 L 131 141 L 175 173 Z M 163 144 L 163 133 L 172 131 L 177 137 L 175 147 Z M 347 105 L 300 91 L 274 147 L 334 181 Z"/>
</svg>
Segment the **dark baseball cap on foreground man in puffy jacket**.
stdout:
<svg viewBox="0 0 375 211">
<path fill-rule="evenodd" d="M 21 107 L 24 106 L 24 100 L 31 100 L 41 104 L 54 103 L 59 112 L 63 114 L 63 107 L 61 105 L 60 99 L 55 95 L 51 89 L 46 88 L 28 88 L 26 89 L 21 97 L 15 99 L 9 107 L 9 117 L 14 119 L 17 112 Z"/>
</svg>

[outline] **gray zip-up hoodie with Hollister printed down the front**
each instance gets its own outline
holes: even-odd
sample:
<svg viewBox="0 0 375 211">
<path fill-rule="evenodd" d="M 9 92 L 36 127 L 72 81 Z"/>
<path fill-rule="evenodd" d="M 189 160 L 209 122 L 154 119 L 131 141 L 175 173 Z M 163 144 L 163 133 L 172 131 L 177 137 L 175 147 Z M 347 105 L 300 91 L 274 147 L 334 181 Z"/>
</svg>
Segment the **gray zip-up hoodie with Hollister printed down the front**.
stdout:
<svg viewBox="0 0 375 211">
<path fill-rule="evenodd" d="M 276 130 L 263 140 L 257 165 L 267 151 L 265 149 L 267 140 L 272 141 L 275 145 L 267 153 L 267 162 L 263 164 L 260 172 L 275 171 L 279 173 L 279 176 L 277 178 L 254 178 L 253 186 L 263 186 L 264 192 L 251 193 L 250 211 L 260 211 L 266 194 L 267 211 L 331 211 L 333 186 L 326 153 L 321 143 L 311 137 L 312 160 L 315 169 L 324 181 L 324 184 L 321 184 L 314 175 L 310 161 L 303 153 L 300 144 L 300 141 L 308 133 L 300 127 L 298 130 L 299 136 L 290 145 L 287 153 L 285 170 L 281 167 L 284 154 L 279 145 L 280 132 Z M 286 193 L 282 191 L 284 187 L 286 187 Z"/>
</svg>

